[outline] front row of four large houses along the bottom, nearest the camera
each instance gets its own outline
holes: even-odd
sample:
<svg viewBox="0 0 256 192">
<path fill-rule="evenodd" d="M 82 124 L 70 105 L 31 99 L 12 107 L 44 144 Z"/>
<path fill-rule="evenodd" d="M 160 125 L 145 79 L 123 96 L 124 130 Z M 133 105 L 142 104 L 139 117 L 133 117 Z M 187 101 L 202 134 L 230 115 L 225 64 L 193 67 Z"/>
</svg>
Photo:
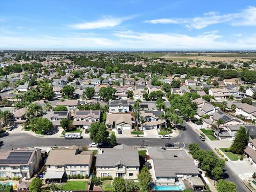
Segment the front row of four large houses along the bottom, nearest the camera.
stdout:
<svg viewBox="0 0 256 192">
<path fill-rule="evenodd" d="M 0 157 L 0 178 L 31 178 L 42 167 L 46 151 L 41 149 L 17 149 L 8 151 Z M 137 180 L 143 164 L 138 150 L 126 145 L 99 149 L 93 166 L 93 150 L 81 147 L 54 148 L 49 151 L 45 162 L 43 178 L 62 182 L 67 175 L 87 175 L 97 177 L 122 177 Z M 194 159 L 185 150 L 164 150 L 159 147 L 148 149 L 147 163 L 153 182 L 156 185 L 178 185 L 183 180 L 199 176 Z"/>
</svg>

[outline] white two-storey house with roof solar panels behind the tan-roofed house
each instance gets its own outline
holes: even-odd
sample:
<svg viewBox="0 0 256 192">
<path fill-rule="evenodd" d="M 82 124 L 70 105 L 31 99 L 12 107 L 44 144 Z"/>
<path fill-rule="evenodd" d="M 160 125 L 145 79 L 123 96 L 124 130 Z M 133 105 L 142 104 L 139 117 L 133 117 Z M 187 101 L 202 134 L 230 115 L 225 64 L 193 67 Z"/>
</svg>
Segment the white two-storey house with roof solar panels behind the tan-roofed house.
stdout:
<svg viewBox="0 0 256 192">
<path fill-rule="evenodd" d="M 109 100 L 110 113 L 127 113 L 130 111 L 130 103 L 126 100 Z"/>
</svg>

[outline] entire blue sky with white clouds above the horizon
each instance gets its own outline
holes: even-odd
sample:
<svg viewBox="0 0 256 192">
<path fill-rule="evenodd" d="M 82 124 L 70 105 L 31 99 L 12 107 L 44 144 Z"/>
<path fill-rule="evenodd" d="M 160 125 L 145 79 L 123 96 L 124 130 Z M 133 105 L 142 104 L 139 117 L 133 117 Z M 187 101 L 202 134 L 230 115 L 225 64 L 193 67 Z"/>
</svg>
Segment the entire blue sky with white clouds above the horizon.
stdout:
<svg viewBox="0 0 256 192">
<path fill-rule="evenodd" d="M 0 0 L 1 50 L 256 50 L 256 1 Z"/>
</svg>

